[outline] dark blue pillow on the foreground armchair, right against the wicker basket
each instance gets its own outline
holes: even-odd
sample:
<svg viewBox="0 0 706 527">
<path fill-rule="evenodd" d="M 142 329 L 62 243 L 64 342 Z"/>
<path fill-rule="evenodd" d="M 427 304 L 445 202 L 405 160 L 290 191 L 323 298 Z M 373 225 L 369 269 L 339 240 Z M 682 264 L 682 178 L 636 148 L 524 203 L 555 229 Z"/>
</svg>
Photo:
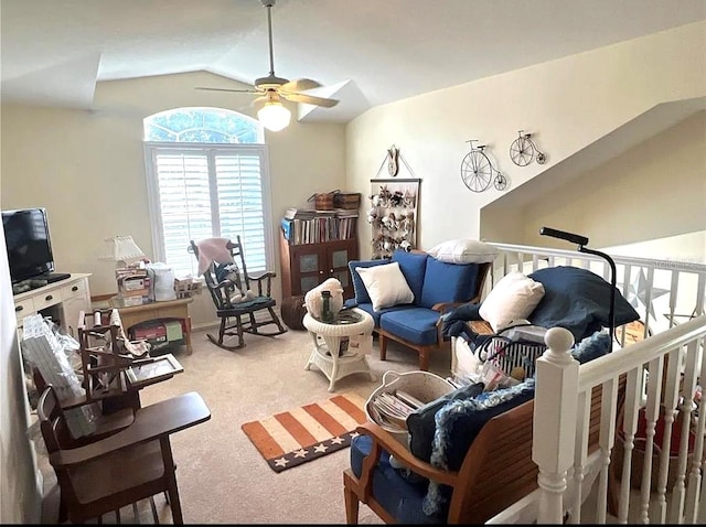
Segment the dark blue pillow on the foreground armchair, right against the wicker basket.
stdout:
<svg viewBox="0 0 706 527">
<path fill-rule="evenodd" d="M 483 388 L 483 383 L 462 386 L 409 413 L 407 416 L 409 451 L 428 463 L 431 458 L 431 441 L 437 429 L 435 421 L 437 412 L 450 400 L 470 399 L 481 394 Z"/>
</svg>

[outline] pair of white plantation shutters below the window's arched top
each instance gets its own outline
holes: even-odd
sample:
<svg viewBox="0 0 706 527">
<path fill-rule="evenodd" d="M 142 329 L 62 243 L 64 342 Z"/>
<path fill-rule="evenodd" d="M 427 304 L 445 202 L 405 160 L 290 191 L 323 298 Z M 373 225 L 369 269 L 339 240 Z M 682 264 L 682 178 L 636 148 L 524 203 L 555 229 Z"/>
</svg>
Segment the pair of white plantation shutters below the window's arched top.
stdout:
<svg viewBox="0 0 706 527">
<path fill-rule="evenodd" d="M 271 269 L 265 146 L 146 143 L 156 259 L 196 276 L 190 240 L 240 235 L 248 271 Z"/>
</svg>

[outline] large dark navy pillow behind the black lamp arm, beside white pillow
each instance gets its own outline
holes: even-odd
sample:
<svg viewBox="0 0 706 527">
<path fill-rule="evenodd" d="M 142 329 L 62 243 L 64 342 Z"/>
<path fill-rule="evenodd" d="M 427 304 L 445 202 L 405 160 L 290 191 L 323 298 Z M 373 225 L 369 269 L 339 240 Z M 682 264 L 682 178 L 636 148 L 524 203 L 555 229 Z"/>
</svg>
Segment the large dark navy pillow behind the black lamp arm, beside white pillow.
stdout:
<svg viewBox="0 0 706 527">
<path fill-rule="evenodd" d="M 544 286 L 544 298 L 527 316 L 535 325 L 561 326 L 580 342 L 610 324 L 611 284 L 595 272 L 573 266 L 547 267 L 530 275 Z M 616 327 L 640 315 L 616 288 Z"/>
</svg>

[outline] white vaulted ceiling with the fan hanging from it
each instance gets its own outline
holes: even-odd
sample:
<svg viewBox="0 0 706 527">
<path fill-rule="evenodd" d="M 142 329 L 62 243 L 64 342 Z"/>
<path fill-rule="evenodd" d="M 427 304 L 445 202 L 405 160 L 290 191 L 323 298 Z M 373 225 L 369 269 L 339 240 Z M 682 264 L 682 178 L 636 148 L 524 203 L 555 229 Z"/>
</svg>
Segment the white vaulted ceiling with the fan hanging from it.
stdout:
<svg viewBox="0 0 706 527">
<path fill-rule="evenodd" d="M 275 73 L 368 108 L 706 19 L 705 0 L 277 0 Z M 101 80 L 269 73 L 261 0 L 2 0 L 2 103 L 92 108 Z"/>
</svg>

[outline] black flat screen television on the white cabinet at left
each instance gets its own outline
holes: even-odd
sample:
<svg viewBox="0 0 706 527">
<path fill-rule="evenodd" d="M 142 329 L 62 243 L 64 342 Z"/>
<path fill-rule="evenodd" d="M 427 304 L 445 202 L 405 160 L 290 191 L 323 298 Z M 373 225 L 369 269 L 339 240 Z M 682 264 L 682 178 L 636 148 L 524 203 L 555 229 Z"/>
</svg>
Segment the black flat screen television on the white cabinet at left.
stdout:
<svg viewBox="0 0 706 527">
<path fill-rule="evenodd" d="M 45 208 L 2 211 L 12 283 L 46 276 L 54 270 L 54 255 Z"/>
</svg>

